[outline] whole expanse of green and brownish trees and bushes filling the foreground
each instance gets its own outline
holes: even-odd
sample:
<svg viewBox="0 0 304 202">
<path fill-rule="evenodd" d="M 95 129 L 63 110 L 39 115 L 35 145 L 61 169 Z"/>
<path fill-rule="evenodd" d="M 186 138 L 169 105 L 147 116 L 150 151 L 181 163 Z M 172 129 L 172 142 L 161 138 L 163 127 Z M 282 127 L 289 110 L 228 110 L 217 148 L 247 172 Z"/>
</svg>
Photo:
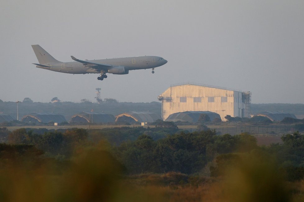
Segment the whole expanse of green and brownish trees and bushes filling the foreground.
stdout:
<svg viewBox="0 0 304 202">
<path fill-rule="evenodd" d="M 295 188 L 288 185 L 298 181 L 292 184 L 296 187 L 304 178 L 304 135 L 298 132 L 269 147 L 257 146 L 247 133 L 189 133 L 171 124 L 153 129 L 2 128 L 0 136 L 6 138 L 0 144 L 1 201 L 142 201 L 183 186 L 190 186 L 183 189 L 185 195 L 200 187 L 196 194 L 207 189 L 220 194 L 218 201 L 289 201 Z M 168 173 L 158 183 L 172 182 L 173 188 L 164 193 L 152 187 L 149 194 L 138 195 L 143 187 L 134 189 L 134 184 L 147 175 L 143 183 L 152 183 L 157 176 L 151 173 Z M 208 176 L 214 187 L 205 186 Z M 301 197 L 299 190 L 294 193 Z"/>
</svg>

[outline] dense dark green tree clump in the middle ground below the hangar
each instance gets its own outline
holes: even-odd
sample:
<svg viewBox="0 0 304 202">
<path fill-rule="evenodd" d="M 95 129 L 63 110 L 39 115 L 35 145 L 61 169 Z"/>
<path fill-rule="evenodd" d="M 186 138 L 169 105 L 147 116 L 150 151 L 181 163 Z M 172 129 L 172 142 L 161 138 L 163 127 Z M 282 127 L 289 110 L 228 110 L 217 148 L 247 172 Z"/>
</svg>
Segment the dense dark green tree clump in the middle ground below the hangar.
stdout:
<svg viewBox="0 0 304 202">
<path fill-rule="evenodd" d="M 114 155 L 129 173 L 198 173 L 217 154 L 248 152 L 256 148 L 256 139 L 248 134 L 217 136 L 215 131 L 179 133 L 154 141 L 148 135 L 124 142 Z"/>
</svg>

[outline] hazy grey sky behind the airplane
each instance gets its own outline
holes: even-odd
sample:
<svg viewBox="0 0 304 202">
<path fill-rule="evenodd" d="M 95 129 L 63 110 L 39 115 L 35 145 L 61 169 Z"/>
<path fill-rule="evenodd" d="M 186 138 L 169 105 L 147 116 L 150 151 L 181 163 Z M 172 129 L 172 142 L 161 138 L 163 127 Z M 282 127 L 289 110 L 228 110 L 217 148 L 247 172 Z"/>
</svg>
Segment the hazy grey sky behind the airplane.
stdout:
<svg viewBox="0 0 304 202">
<path fill-rule="evenodd" d="M 252 103 L 304 103 L 304 1 L 2 0 L 0 99 L 153 102 L 194 82 L 252 92 Z M 127 75 L 36 68 L 31 45 L 55 59 L 155 55 L 168 63 Z"/>
</svg>

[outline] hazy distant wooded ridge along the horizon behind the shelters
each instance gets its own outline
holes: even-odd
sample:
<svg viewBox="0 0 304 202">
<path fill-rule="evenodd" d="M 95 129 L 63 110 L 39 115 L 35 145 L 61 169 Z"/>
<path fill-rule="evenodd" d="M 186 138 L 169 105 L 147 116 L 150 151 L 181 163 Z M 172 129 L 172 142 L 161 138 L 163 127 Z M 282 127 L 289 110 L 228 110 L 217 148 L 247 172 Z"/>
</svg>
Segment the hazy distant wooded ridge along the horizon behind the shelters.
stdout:
<svg viewBox="0 0 304 202">
<path fill-rule="evenodd" d="M 19 116 L 22 117 L 26 114 L 33 112 L 53 112 L 62 114 L 66 117 L 67 121 L 72 115 L 79 112 L 90 112 L 94 109 L 95 112 L 105 112 L 108 114 L 118 115 L 123 112 L 140 111 L 140 112 L 153 112 L 156 114 L 161 113 L 161 103 L 130 103 L 130 102 L 110 102 L 113 99 L 105 99 L 108 102 L 102 103 L 73 103 L 73 102 L 56 102 L 56 103 L 41 103 L 41 102 L 20 102 L 19 103 Z M 251 113 L 256 114 L 264 111 L 272 112 L 288 112 L 292 114 L 304 114 L 304 104 L 251 104 Z M 16 102 L 1 102 L 0 112 L 17 117 L 17 104 Z"/>
</svg>

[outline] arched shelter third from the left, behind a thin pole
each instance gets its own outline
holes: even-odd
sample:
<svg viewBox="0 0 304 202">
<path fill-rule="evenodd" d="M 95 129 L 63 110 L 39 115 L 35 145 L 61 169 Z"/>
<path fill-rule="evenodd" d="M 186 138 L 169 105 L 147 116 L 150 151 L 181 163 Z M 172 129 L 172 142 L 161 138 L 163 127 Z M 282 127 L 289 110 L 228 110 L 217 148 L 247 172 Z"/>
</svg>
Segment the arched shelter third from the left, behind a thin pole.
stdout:
<svg viewBox="0 0 304 202">
<path fill-rule="evenodd" d="M 70 123 L 113 123 L 112 114 L 98 112 L 81 112 L 71 117 Z"/>
</svg>

